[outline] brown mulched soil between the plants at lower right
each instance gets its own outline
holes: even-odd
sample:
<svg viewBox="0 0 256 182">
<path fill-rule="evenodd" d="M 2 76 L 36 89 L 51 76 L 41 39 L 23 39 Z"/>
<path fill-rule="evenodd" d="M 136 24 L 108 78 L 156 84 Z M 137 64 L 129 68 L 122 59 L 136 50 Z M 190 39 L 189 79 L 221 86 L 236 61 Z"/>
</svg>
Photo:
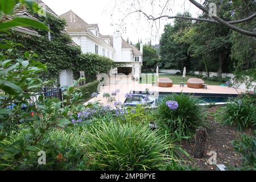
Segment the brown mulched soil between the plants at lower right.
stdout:
<svg viewBox="0 0 256 182">
<path fill-rule="evenodd" d="M 220 106 L 214 106 L 209 109 L 209 113 L 216 113 L 216 110 Z M 234 151 L 234 147 L 232 145 L 232 140 L 238 139 L 241 134 L 253 135 L 254 129 L 249 129 L 245 131 L 237 131 L 235 127 L 232 126 L 222 126 L 220 123 L 216 122 L 213 115 L 208 117 L 208 121 L 210 123 L 211 128 L 208 129 L 208 140 L 207 140 L 207 150 L 206 153 L 210 151 L 217 152 L 217 164 L 224 164 L 225 166 L 231 165 L 236 167 L 241 167 L 241 156 L 237 155 Z M 193 158 L 194 151 L 194 142 L 183 142 L 182 143 L 184 150 L 186 150 L 190 159 L 188 160 L 189 164 L 192 167 L 197 167 L 200 170 L 209 171 L 215 170 L 216 166 L 210 165 L 208 163 L 208 159 L 210 156 L 207 154 L 204 155 L 202 159 Z"/>
</svg>

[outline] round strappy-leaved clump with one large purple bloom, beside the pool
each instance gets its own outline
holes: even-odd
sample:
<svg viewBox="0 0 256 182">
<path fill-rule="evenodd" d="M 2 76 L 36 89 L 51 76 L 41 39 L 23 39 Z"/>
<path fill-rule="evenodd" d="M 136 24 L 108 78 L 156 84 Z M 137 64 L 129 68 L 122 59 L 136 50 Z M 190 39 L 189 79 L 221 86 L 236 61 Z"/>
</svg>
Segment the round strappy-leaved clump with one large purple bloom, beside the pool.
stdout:
<svg viewBox="0 0 256 182">
<path fill-rule="evenodd" d="M 168 126 L 178 137 L 193 137 L 196 129 L 207 127 L 205 107 L 200 100 L 188 94 L 172 94 L 163 98 L 156 110 L 159 122 Z"/>
</svg>

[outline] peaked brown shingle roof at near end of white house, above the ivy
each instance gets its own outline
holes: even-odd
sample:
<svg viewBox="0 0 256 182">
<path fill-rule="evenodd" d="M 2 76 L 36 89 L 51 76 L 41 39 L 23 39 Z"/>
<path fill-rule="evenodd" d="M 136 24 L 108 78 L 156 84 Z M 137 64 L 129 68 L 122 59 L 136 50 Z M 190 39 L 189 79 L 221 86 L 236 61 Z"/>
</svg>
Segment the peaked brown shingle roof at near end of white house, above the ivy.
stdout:
<svg viewBox="0 0 256 182">
<path fill-rule="evenodd" d="M 77 16 L 73 11 L 68 11 L 63 15 L 60 15 L 67 22 L 66 30 L 67 32 L 87 32 L 88 28 L 98 28 L 98 24 L 88 24 L 79 16 Z"/>
</svg>

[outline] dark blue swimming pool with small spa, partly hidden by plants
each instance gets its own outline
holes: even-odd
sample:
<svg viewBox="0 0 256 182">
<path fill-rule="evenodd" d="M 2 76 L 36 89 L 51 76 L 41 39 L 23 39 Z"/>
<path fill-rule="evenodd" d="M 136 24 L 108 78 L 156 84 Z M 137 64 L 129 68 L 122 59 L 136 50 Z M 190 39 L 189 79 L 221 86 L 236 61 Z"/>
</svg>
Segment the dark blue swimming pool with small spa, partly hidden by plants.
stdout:
<svg viewBox="0 0 256 182">
<path fill-rule="evenodd" d="M 124 105 L 125 106 L 136 106 L 137 104 L 143 104 L 144 98 L 146 97 L 146 92 L 130 92 L 133 95 L 133 98 L 126 99 Z M 150 96 L 150 104 L 157 105 L 162 99 L 173 93 L 170 92 L 155 92 L 154 96 Z M 180 93 L 176 93 L 180 94 Z M 184 94 L 192 94 L 195 97 L 198 97 L 201 101 L 201 104 L 223 104 L 224 102 L 228 102 L 230 99 L 237 97 L 238 94 L 217 94 L 217 93 L 184 93 Z"/>
</svg>

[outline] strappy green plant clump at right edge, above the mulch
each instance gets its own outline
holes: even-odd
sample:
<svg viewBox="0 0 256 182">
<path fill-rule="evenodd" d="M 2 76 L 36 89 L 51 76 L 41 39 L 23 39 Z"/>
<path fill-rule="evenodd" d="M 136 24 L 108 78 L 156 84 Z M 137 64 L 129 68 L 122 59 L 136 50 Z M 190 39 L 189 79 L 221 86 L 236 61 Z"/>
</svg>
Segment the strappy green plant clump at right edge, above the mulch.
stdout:
<svg viewBox="0 0 256 182">
<path fill-rule="evenodd" d="M 247 100 L 234 100 L 218 110 L 217 120 L 223 125 L 235 126 L 240 131 L 255 126 L 256 106 Z"/>
</svg>

